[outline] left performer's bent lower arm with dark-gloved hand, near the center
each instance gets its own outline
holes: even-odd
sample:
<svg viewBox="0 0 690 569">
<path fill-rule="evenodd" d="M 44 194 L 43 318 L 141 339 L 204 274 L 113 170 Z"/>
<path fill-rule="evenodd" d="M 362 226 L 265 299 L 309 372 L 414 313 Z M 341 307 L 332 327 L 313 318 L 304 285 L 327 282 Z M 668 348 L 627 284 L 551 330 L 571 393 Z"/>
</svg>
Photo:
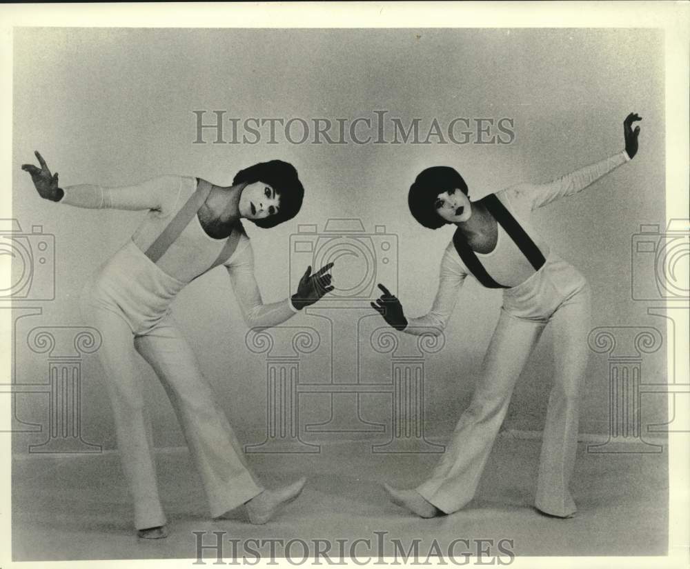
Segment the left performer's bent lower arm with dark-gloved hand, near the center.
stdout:
<svg viewBox="0 0 690 569">
<path fill-rule="evenodd" d="M 230 274 L 230 282 L 235 290 L 242 318 L 249 328 L 277 326 L 333 290 L 331 274 L 328 274 L 333 263 L 328 263 L 314 274 L 311 274 L 311 267 L 309 267 L 300 279 L 297 292 L 293 297 L 265 304 L 254 276 L 254 253 L 251 243 L 248 240 L 244 243 L 242 249 L 233 255 L 232 261 L 226 265 L 226 268 Z"/>
</svg>

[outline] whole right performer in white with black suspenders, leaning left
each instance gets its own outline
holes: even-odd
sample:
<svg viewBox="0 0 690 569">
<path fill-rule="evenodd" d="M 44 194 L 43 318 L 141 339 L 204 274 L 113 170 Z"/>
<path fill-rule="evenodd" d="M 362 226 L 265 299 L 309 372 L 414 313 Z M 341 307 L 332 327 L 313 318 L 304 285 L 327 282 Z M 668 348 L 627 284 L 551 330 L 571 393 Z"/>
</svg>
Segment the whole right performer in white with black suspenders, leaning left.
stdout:
<svg viewBox="0 0 690 569">
<path fill-rule="evenodd" d="M 400 490 L 385 485 L 399 506 L 424 517 L 460 510 L 474 496 L 493 441 L 505 417 L 515 381 L 544 327 L 553 329 L 553 388 L 546 410 L 535 506 L 567 518 L 576 511 L 569 492 L 578 443 L 579 402 L 590 330 L 589 285 L 558 257 L 529 223 L 532 210 L 575 194 L 633 159 L 638 114 L 623 122 L 625 150 L 548 183 L 521 183 L 471 201 L 466 183 L 453 168 L 421 172 L 408 194 L 409 208 L 422 226 L 456 226 L 446 247 L 431 312 L 406 318 L 400 301 L 380 285 L 372 303 L 391 326 L 413 335 L 440 334 L 455 308 L 464 279 L 501 288 L 500 317 L 484 357 L 471 403 L 462 413 L 446 452 L 420 486 Z"/>
</svg>

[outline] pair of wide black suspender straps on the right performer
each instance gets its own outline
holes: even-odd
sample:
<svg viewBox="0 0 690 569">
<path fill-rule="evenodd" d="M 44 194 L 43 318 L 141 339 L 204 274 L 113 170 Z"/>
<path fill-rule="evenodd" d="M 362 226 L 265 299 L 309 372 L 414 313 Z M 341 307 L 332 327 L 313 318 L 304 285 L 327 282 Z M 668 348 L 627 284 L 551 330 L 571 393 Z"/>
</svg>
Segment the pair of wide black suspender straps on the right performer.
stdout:
<svg viewBox="0 0 690 569">
<path fill-rule="evenodd" d="M 500 226 L 509 237 L 513 239 L 517 248 L 524 254 L 534 270 L 540 270 L 546 262 L 544 255 L 536 243 L 529 237 L 527 232 L 520 226 L 520 223 L 517 223 L 517 219 L 513 217 L 513 214 L 511 214 L 506 206 L 501 203 L 500 199 L 496 197 L 496 194 L 489 194 L 480 201 L 486 206 L 486 209 L 491 213 L 493 218 L 500 223 Z M 491 278 L 491 275 L 486 272 L 486 269 L 482 265 L 482 261 L 479 260 L 475 252 L 469 246 L 469 243 L 467 243 L 460 228 L 457 228 L 453 235 L 453 245 L 455 246 L 457 254 L 460 255 L 462 262 L 465 263 L 465 266 L 474 275 L 475 279 L 482 283 L 482 286 L 486 288 L 510 288 L 497 283 Z"/>
</svg>

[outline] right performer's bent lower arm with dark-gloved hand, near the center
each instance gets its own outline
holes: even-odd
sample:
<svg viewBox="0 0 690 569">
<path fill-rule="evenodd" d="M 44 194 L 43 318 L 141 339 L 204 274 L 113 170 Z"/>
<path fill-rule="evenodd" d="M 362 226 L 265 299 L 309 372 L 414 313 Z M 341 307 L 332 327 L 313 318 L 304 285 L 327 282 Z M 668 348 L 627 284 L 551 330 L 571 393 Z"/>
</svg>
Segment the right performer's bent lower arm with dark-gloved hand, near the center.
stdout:
<svg viewBox="0 0 690 569">
<path fill-rule="evenodd" d="M 450 248 L 446 249 L 441 260 L 441 270 L 439 276 L 438 290 L 431 306 L 431 310 L 424 316 L 417 318 L 406 318 L 400 301 L 379 285 L 383 295 L 371 307 L 379 312 L 384 320 L 393 328 L 411 334 L 421 336 L 423 334 L 433 334 L 438 336 L 446 328 L 448 319 L 453 314 L 455 303 L 457 303 L 457 292 L 464 283 L 466 273 L 460 269 L 456 259 L 457 253 Z"/>
</svg>

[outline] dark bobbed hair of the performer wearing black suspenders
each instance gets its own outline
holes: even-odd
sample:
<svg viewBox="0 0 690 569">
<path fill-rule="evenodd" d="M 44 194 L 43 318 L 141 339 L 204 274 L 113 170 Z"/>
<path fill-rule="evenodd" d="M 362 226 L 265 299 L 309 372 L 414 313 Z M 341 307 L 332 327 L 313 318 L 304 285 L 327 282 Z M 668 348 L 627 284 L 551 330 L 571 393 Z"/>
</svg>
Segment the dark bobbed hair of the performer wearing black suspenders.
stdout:
<svg viewBox="0 0 690 569">
<path fill-rule="evenodd" d="M 438 229 L 448 221 L 443 219 L 435 208 L 438 194 L 459 189 L 467 195 L 467 184 L 462 176 L 450 166 L 433 166 L 422 170 L 410 186 L 407 205 L 413 217 L 424 227 Z"/>
</svg>

